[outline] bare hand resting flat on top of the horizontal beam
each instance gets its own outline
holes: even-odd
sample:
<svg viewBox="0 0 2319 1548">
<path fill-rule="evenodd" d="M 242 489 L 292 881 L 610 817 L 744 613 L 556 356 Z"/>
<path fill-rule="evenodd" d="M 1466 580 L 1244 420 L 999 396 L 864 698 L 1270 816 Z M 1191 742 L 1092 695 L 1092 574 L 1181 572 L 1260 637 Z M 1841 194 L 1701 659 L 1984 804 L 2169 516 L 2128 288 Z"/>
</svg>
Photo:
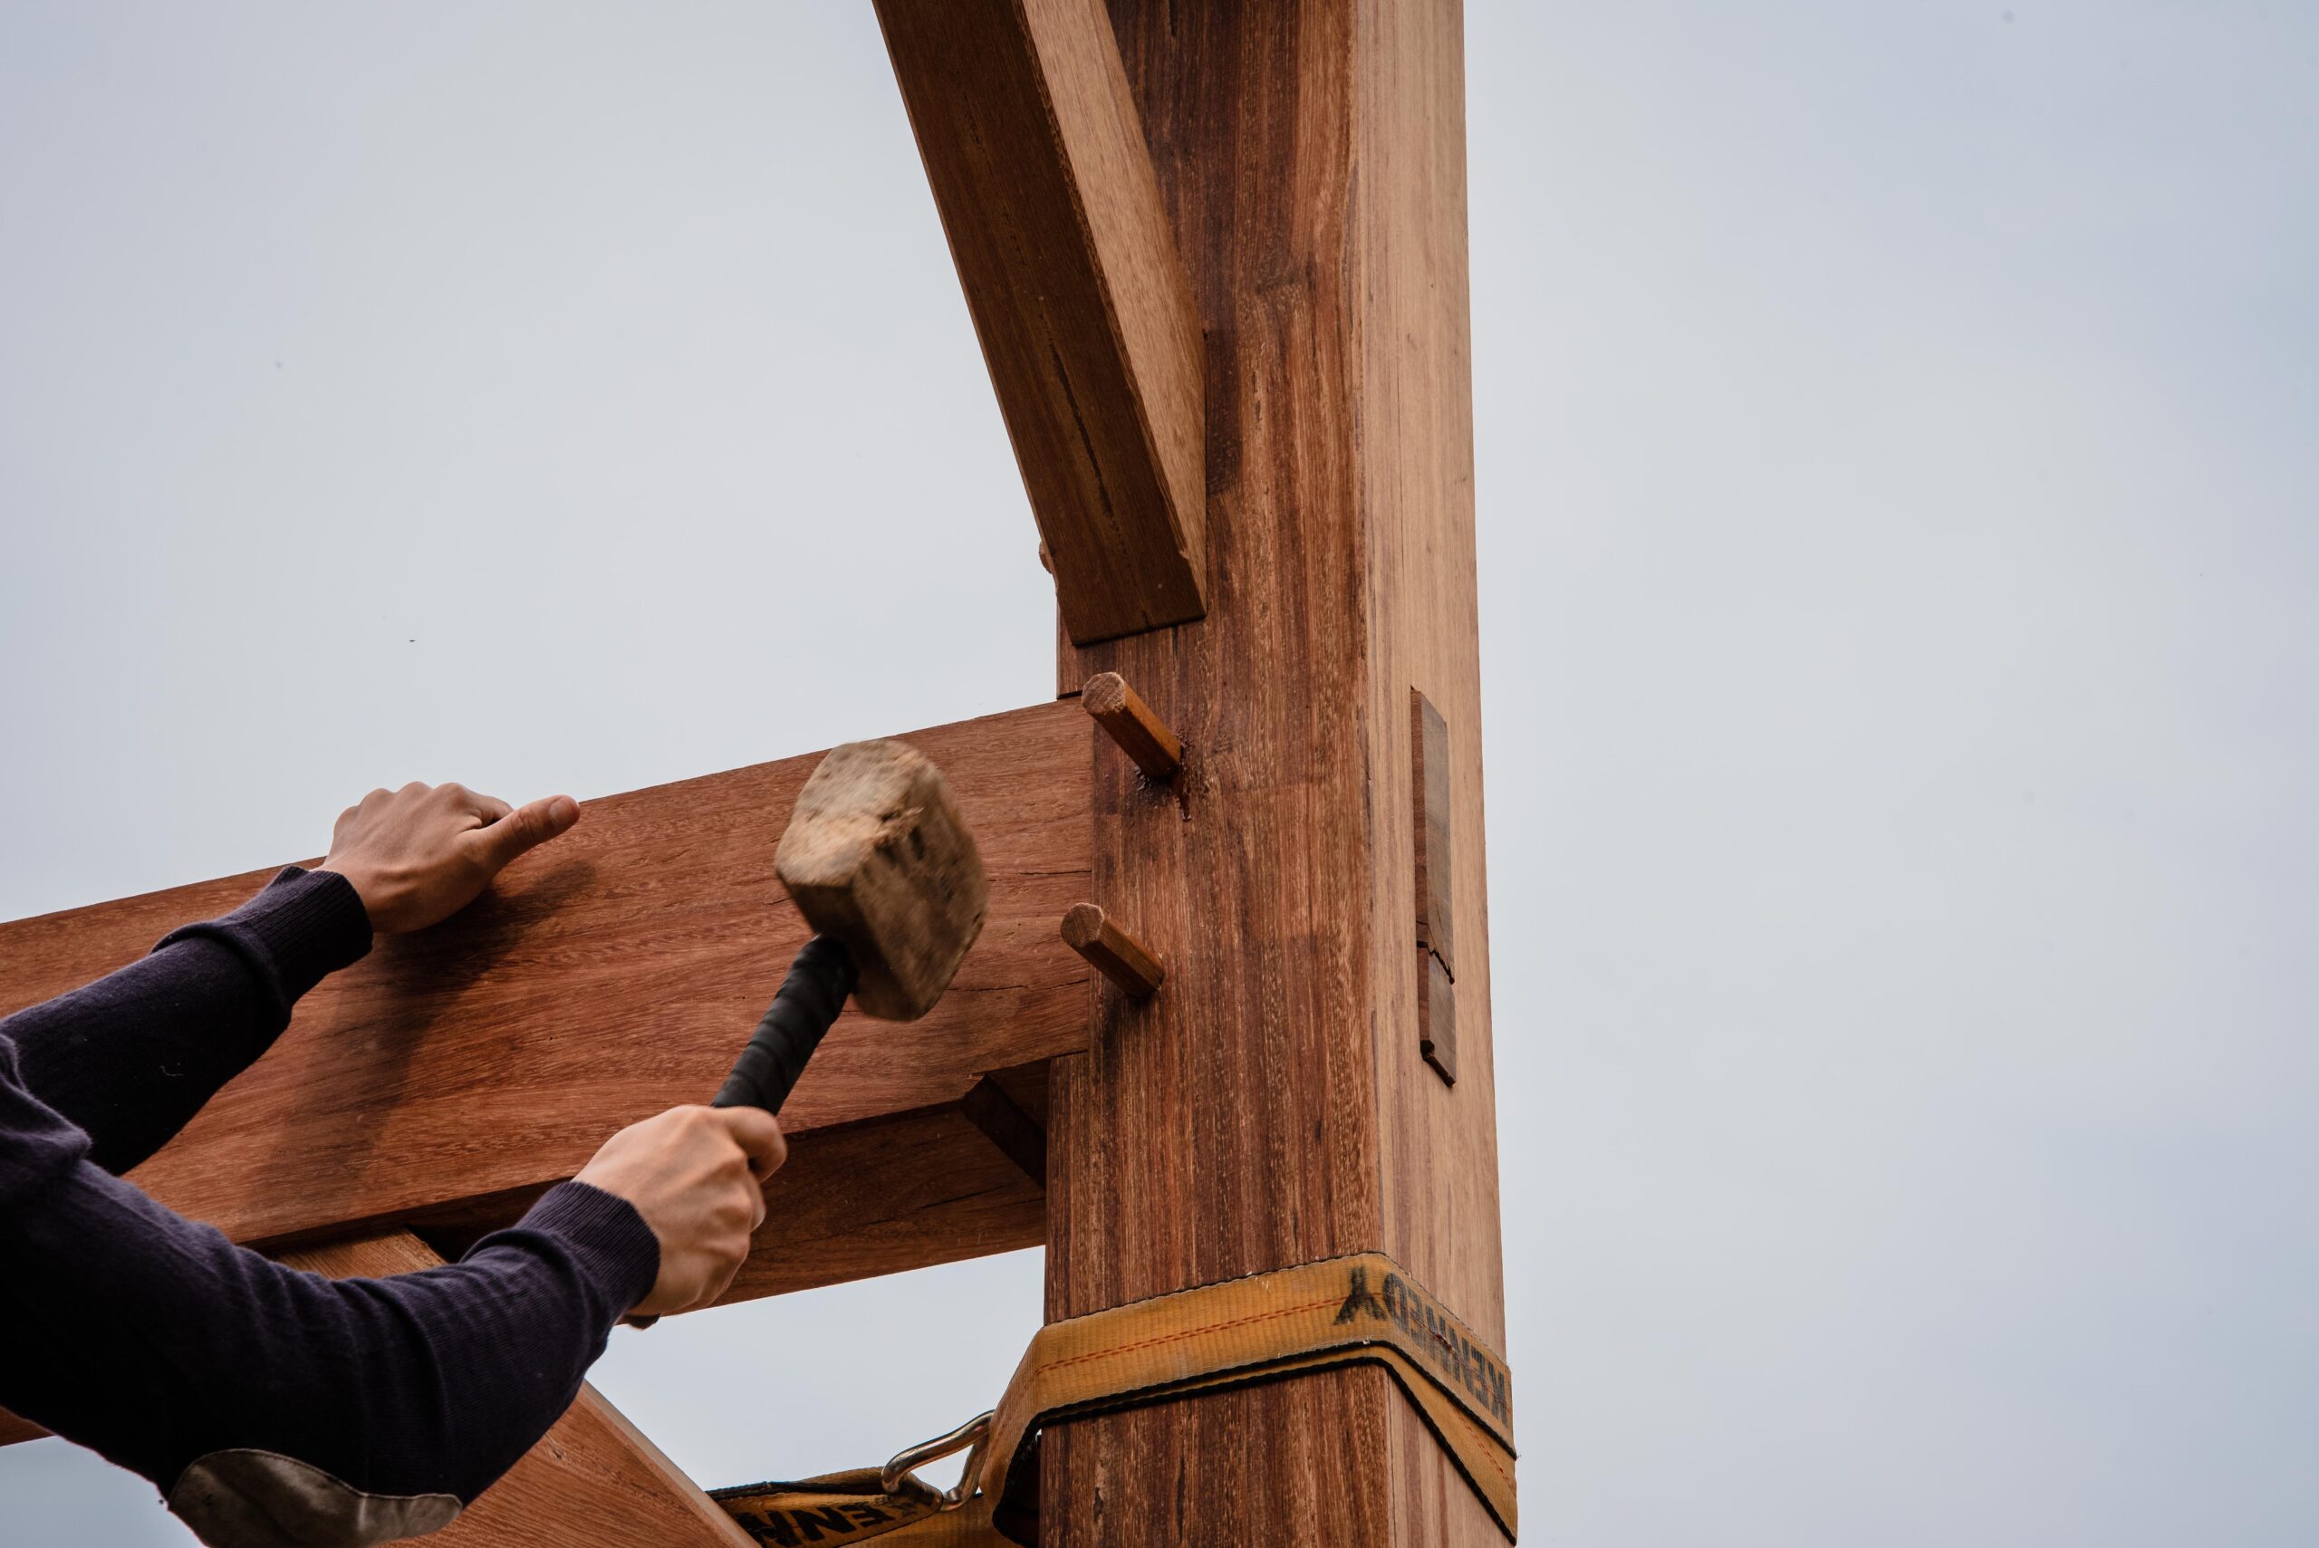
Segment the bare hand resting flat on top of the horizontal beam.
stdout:
<svg viewBox="0 0 2319 1548">
<path fill-rule="evenodd" d="M 424 929 L 466 908 L 503 864 L 577 820 L 580 802 L 568 795 L 508 806 L 466 786 L 371 790 L 339 813 L 322 869 L 355 885 L 371 929 Z"/>
</svg>

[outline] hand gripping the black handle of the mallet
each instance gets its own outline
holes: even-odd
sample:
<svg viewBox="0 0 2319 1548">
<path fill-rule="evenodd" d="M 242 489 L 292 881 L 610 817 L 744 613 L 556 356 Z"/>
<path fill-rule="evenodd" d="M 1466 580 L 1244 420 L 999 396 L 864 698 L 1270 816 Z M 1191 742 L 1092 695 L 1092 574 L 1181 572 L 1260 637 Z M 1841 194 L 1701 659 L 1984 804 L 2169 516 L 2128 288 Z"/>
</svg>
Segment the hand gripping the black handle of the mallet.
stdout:
<svg viewBox="0 0 2319 1548">
<path fill-rule="evenodd" d="M 661 1240 L 661 1277 L 631 1316 L 726 1293 L 765 1224 L 765 1177 L 786 1159 L 782 1124 L 758 1108 L 670 1108 L 603 1142 L 577 1180 L 626 1198 Z"/>
</svg>

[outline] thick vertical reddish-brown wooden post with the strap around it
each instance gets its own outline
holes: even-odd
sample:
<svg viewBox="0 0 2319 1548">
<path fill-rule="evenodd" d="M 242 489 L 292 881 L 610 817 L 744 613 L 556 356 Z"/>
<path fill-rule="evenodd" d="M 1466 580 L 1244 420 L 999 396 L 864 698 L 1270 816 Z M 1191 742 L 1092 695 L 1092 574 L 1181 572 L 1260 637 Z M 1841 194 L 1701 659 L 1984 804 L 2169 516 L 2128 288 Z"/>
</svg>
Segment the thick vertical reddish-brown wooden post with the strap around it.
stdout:
<svg viewBox="0 0 2319 1548">
<path fill-rule="evenodd" d="M 1055 1066 L 1048 1314 L 1394 1254 L 1503 1349 L 1459 0 L 1111 0 L 1208 338 L 1208 616 L 1078 651 L 1183 737 L 1095 762 L 1169 962 Z M 1410 691 L 1447 725 L 1456 1085 L 1417 1038 Z M 1048 1543 L 1503 1541 L 1375 1370 L 1055 1427 Z"/>
</svg>

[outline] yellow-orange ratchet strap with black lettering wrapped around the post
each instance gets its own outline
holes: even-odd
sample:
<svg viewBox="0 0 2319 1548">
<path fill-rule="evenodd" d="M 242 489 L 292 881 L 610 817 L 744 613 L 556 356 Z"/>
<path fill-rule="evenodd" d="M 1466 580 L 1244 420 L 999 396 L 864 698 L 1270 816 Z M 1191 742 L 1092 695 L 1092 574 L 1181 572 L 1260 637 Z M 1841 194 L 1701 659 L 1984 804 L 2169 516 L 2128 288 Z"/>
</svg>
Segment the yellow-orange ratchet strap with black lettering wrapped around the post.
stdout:
<svg viewBox="0 0 2319 1548">
<path fill-rule="evenodd" d="M 1023 1351 L 999 1407 L 951 1434 L 884 1469 L 751 1483 L 714 1490 L 714 1499 L 770 1548 L 870 1539 L 890 1539 L 879 1548 L 1032 1543 L 1039 1478 L 1025 1441 L 1046 1425 L 1357 1363 L 1394 1374 L 1512 1541 L 1514 1379 L 1382 1251 L 1048 1323 Z M 969 1448 L 946 1495 L 911 1476 L 923 1462 Z"/>
</svg>

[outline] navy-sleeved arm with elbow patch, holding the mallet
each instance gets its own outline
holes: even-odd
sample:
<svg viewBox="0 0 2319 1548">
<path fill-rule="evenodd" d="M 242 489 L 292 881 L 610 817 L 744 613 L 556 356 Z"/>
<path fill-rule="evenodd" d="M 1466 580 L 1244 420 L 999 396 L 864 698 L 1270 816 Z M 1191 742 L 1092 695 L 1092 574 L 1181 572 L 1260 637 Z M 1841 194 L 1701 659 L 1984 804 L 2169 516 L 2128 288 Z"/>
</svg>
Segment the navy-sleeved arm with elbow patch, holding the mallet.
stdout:
<svg viewBox="0 0 2319 1548">
<path fill-rule="evenodd" d="M 566 1184 L 457 1265 L 327 1282 L 63 1161 L 53 1124 L 26 1129 L 14 1173 L 0 1154 L 0 1261 L 16 1265 L 0 1321 L 19 1335 L 0 1407 L 144 1474 L 197 1525 L 234 1490 L 301 1478 L 373 1511 L 473 1499 L 564 1414 L 659 1270 L 635 1210 Z"/>
</svg>

